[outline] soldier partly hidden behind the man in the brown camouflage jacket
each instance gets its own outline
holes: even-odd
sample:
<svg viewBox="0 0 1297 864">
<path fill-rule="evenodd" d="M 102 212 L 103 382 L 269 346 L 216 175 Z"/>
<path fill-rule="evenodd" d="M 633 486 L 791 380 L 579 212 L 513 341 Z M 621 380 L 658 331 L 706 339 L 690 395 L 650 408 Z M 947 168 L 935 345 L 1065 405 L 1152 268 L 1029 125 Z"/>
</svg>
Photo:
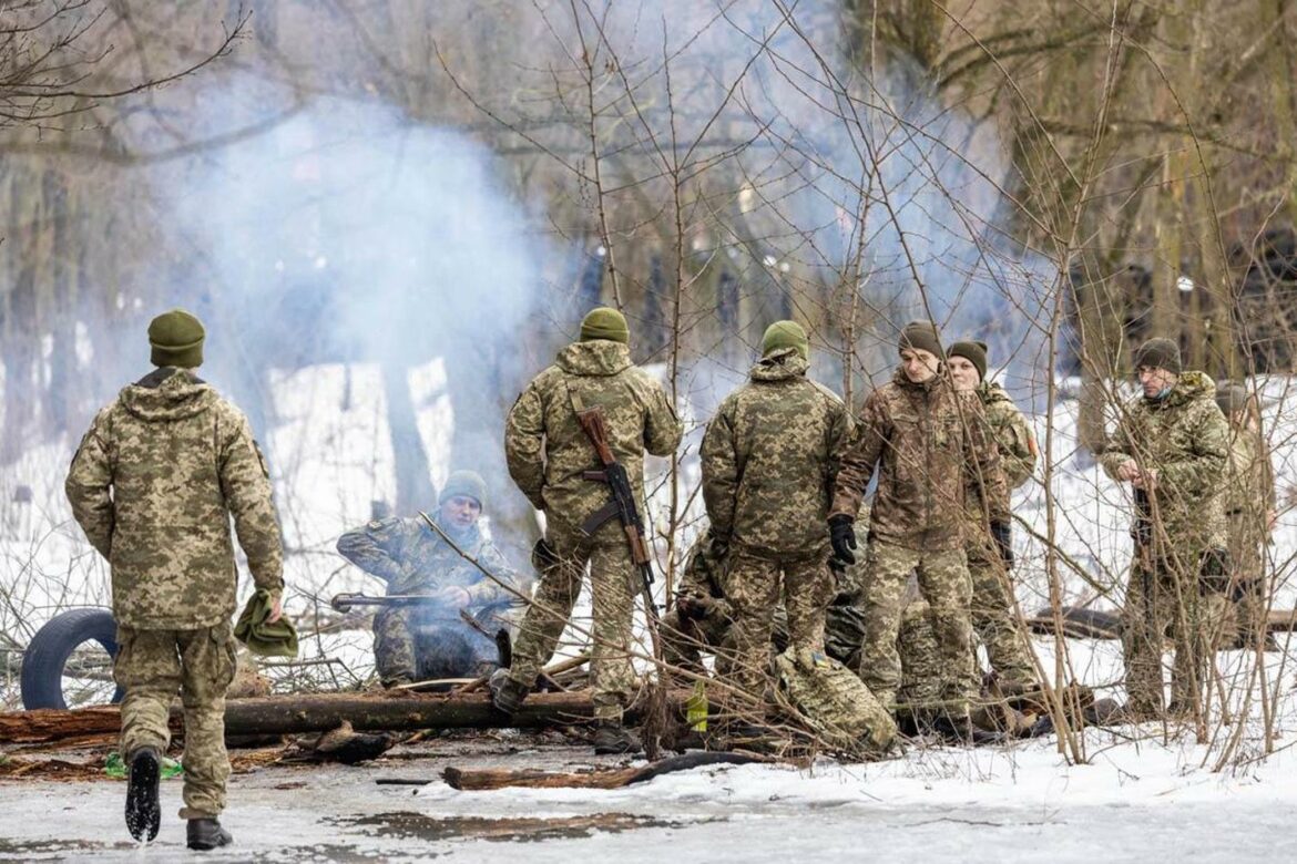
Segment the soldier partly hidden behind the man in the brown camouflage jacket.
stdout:
<svg viewBox="0 0 1297 864">
<path fill-rule="evenodd" d="M 1036 466 L 1036 443 L 1031 429 L 1009 394 L 1000 385 L 986 380 L 986 345 L 956 342 L 947 351 L 951 380 L 960 392 L 975 394 L 986 416 L 987 434 L 1000 451 L 1000 468 L 1009 490 L 1027 482 Z M 1036 684 L 1036 665 L 1031 659 L 1030 641 L 1019 626 L 1013 604 L 1013 545 L 1009 525 L 1003 523 L 1003 536 L 994 538 L 983 505 L 982 486 L 974 483 L 965 501 L 965 552 L 973 576 L 973 632 L 986 646 L 991 670 L 1001 685 L 1017 689 Z"/>
</svg>

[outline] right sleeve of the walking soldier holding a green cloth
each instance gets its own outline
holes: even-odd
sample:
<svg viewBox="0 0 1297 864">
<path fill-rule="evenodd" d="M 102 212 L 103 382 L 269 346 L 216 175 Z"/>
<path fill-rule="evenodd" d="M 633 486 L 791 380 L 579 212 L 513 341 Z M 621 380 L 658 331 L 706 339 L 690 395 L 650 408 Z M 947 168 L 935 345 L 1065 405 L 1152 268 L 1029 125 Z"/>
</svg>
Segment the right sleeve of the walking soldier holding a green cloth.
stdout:
<svg viewBox="0 0 1297 864">
<path fill-rule="evenodd" d="M 284 589 L 284 544 L 270 486 L 270 469 L 253 440 L 248 420 L 239 416 L 220 453 L 220 491 L 235 519 L 239 545 L 248 556 L 257 588 Z"/>
</svg>

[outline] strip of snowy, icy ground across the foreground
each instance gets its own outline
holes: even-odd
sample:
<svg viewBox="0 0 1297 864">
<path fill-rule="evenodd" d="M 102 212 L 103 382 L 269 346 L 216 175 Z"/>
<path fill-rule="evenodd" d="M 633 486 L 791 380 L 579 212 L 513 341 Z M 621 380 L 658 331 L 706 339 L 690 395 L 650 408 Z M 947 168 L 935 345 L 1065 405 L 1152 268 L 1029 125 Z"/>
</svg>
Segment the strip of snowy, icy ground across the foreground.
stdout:
<svg viewBox="0 0 1297 864">
<path fill-rule="evenodd" d="M 866 766 L 743 766 L 616 790 L 455 791 L 446 764 L 571 771 L 582 751 L 527 740 L 405 749 L 359 768 L 236 776 L 224 823 L 237 846 L 202 859 L 582 861 L 1236 861 L 1292 860 L 1292 753 L 1233 773 L 1200 747 L 1091 731 L 1091 764 L 1052 742 L 931 749 Z M 379 786 L 377 777 L 432 782 Z M 163 784 L 157 843 L 126 839 L 121 782 L 0 784 L 0 860 L 184 860 Z M 57 813 L 57 819 L 49 819 Z M 524 843 L 519 846 L 519 843 Z M 198 858 L 198 856 L 193 856 Z"/>
</svg>

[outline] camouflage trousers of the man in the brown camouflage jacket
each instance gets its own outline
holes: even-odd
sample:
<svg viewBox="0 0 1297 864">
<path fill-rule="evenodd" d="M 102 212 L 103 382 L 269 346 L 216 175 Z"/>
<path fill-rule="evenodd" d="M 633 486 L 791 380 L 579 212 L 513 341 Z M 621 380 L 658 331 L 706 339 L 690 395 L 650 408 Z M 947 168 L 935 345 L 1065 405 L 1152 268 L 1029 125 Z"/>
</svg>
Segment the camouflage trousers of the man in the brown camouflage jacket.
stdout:
<svg viewBox="0 0 1297 864">
<path fill-rule="evenodd" d="M 973 628 L 969 620 L 971 580 L 962 548 L 921 552 L 874 540 L 869 544 L 864 587 L 865 639 L 860 677 L 887 709 L 896 705 L 901 665 L 896 649 L 905 583 L 918 576 L 920 593 L 927 601 L 942 667 L 940 698 L 958 715 L 977 693 L 973 662 Z"/>
</svg>

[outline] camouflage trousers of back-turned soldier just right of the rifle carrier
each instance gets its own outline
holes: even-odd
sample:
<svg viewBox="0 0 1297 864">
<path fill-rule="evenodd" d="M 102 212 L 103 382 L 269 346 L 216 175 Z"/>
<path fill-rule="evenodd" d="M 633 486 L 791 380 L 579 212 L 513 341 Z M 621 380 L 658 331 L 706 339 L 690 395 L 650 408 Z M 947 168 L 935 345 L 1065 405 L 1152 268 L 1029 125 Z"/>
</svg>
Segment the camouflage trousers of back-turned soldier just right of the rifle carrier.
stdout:
<svg viewBox="0 0 1297 864">
<path fill-rule="evenodd" d="M 770 636 L 781 598 L 789 646 L 824 652 L 825 609 L 833 598 L 829 551 L 768 558 L 737 548 L 730 553 L 725 597 L 734 615 L 734 663 L 726 677 L 738 690 L 761 699 L 773 681 Z"/>
</svg>

